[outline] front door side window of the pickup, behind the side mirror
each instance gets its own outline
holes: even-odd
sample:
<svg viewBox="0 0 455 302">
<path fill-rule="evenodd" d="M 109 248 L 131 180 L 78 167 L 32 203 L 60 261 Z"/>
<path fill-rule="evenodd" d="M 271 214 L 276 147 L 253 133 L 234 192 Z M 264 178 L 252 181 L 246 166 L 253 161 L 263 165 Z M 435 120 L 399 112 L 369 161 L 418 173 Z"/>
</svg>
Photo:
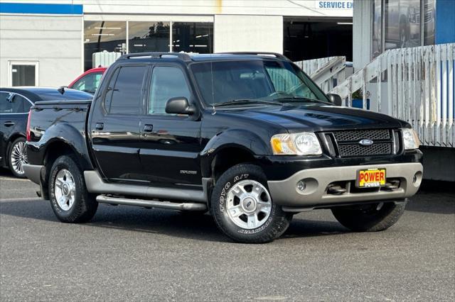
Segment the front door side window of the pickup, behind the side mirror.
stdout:
<svg viewBox="0 0 455 302">
<path fill-rule="evenodd" d="M 191 93 L 185 74 L 178 67 L 157 66 L 151 74 L 149 114 L 167 114 L 168 99 L 184 96 L 190 99 Z"/>
</svg>

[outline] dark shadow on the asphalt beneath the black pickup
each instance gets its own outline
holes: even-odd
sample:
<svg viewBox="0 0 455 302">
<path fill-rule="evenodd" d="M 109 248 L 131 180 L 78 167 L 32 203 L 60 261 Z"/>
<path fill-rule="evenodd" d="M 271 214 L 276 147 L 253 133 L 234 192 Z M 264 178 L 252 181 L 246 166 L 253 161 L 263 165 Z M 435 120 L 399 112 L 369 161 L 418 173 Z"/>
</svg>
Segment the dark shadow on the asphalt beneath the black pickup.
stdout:
<svg viewBox="0 0 455 302">
<path fill-rule="evenodd" d="M 0 214 L 61 224 L 55 218 L 48 201 L 41 199 L 2 201 Z M 100 205 L 92 221 L 84 225 L 201 241 L 232 242 L 218 230 L 213 218 L 208 214 L 192 216 L 191 213 L 176 211 Z M 337 233 L 348 233 L 348 230 L 336 222 L 294 219 L 284 237 L 319 237 Z"/>
</svg>

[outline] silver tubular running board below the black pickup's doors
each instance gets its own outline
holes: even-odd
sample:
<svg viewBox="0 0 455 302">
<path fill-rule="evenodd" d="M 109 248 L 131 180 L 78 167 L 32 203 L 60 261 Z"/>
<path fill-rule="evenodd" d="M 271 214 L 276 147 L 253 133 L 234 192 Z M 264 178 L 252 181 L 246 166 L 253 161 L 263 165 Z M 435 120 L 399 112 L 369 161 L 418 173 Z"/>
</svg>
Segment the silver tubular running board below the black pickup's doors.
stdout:
<svg viewBox="0 0 455 302">
<path fill-rule="evenodd" d="M 119 197 L 109 197 L 105 195 L 97 196 L 99 203 L 110 203 L 124 206 L 141 206 L 144 208 L 167 208 L 178 211 L 206 211 L 205 203 L 173 203 L 169 201 L 148 201 L 145 199 L 129 199 Z"/>
</svg>

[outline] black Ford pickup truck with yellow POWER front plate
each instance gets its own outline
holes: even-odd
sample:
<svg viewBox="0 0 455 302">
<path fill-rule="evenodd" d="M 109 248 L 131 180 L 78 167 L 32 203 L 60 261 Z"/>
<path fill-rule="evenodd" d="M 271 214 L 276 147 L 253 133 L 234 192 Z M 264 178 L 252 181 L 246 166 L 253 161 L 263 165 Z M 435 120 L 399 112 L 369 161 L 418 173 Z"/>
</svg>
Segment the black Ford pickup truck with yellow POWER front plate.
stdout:
<svg viewBox="0 0 455 302">
<path fill-rule="evenodd" d="M 210 211 L 239 242 L 268 242 L 295 213 L 330 208 L 385 230 L 422 181 L 404 121 L 341 106 L 271 53 L 120 57 L 93 101 L 41 101 L 24 169 L 65 223 L 98 203 Z"/>
</svg>

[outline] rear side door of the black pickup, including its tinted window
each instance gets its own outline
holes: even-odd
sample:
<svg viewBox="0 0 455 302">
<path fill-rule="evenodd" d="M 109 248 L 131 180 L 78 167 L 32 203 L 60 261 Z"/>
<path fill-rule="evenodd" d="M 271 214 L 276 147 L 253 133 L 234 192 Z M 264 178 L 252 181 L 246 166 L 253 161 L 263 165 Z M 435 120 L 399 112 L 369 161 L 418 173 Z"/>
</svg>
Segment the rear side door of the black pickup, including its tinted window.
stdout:
<svg viewBox="0 0 455 302">
<path fill-rule="evenodd" d="M 95 104 L 89 123 L 92 149 L 108 181 L 141 183 L 139 148 L 147 65 L 119 65 Z"/>
</svg>

